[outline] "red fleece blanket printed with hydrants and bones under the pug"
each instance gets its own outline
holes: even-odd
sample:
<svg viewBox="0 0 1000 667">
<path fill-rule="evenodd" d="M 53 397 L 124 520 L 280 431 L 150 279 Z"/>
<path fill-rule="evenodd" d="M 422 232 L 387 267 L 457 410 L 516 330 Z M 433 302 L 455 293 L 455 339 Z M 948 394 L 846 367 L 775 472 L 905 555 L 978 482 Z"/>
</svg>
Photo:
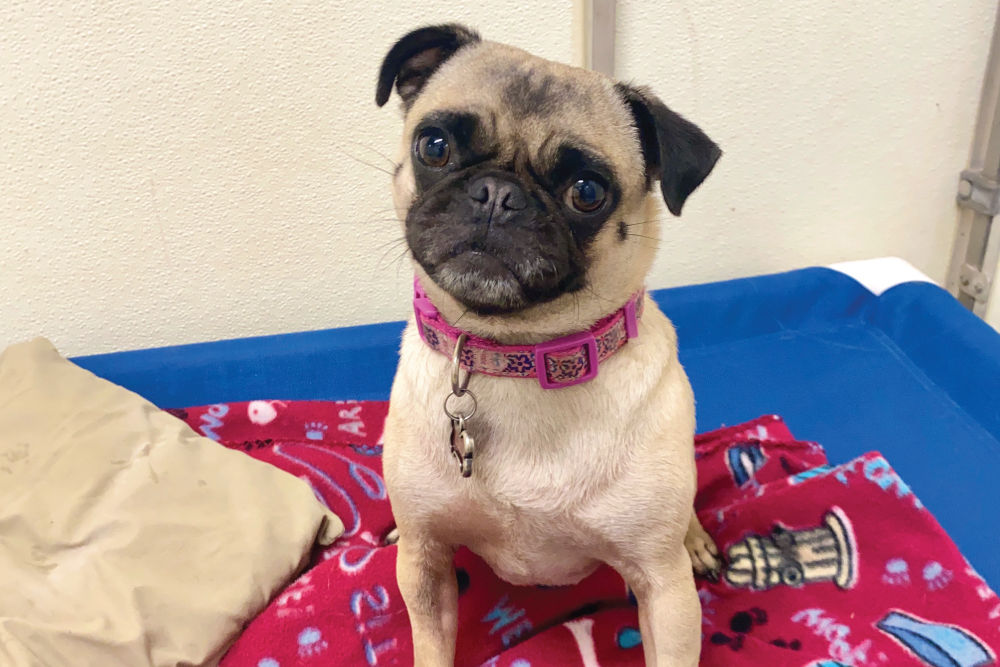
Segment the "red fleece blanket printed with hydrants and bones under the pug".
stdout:
<svg viewBox="0 0 1000 667">
<path fill-rule="evenodd" d="M 385 403 L 253 401 L 174 411 L 307 480 L 346 531 L 250 625 L 223 667 L 412 664 L 381 476 Z M 879 454 L 837 467 L 778 417 L 698 437 L 698 513 L 725 554 L 699 581 L 702 665 L 996 665 L 1000 599 Z M 623 512 L 628 508 L 623 507 Z M 516 587 L 460 550 L 456 664 L 643 665 L 633 600 L 602 568 Z M 234 567 L 238 564 L 234 564 Z"/>
</svg>

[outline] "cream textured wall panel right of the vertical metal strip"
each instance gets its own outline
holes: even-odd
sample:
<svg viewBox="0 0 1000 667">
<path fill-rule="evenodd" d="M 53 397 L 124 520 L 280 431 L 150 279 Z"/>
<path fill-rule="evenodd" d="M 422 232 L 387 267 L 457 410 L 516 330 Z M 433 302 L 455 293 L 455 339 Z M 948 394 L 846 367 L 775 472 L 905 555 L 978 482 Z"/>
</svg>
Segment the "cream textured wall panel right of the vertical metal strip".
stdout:
<svg viewBox="0 0 1000 667">
<path fill-rule="evenodd" d="M 944 280 L 995 0 L 620 0 L 619 76 L 722 146 L 656 286 L 884 255 Z"/>
</svg>

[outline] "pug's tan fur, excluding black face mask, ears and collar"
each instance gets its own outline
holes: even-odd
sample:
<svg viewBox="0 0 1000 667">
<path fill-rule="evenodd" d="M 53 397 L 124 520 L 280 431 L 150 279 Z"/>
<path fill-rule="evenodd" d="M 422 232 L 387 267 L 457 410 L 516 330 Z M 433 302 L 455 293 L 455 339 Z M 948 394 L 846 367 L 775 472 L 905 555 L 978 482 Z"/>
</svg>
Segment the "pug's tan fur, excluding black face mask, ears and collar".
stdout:
<svg viewBox="0 0 1000 667">
<path fill-rule="evenodd" d="M 578 96 L 518 119 L 496 94 L 512 77 L 551 75 Z M 585 103 L 579 103 L 579 100 Z M 415 125 L 440 109 L 493 119 L 502 151 L 544 161 L 546 146 L 586 142 L 618 175 L 621 201 L 588 247 L 588 288 L 504 316 L 479 316 L 416 272 L 445 319 L 504 343 L 540 342 L 585 330 L 642 288 L 659 236 L 632 116 L 599 74 L 491 42 L 445 62 L 406 116 L 397 210 L 414 197 Z M 617 222 L 636 232 L 618 238 Z M 639 337 L 592 381 L 543 390 L 533 380 L 472 377 L 479 410 L 469 423 L 475 472 L 463 479 L 448 447 L 442 401 L 450 360 L 429 349 L 411 321 L 402 342 L 385 427 L 384 470 L 399 528 L 397 574 L 413 627 L 415 664 L 454 661 L 454 549 L 465 545 L 515 584 L 571 584 L 600 562 L 639 602 L 647 665 L 698 663 L 701 616 L 692 575 L 712 567 L 714 547 L 694 518 L 694 399 L 670 321 L 648 297 Z"/>
</svg>

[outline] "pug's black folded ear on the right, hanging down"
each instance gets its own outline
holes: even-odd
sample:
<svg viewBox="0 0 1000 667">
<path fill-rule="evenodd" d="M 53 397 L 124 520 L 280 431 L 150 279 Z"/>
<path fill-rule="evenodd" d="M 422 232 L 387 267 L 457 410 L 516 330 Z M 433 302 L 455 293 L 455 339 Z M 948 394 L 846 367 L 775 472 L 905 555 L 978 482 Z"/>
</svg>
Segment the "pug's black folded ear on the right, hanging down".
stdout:
<svg viewBox="0 0 1000 667">
<path fill-rule="evenodd" d="M 660 179 L 663 201 L 680 215 L 688 196 L 711 173 L 722 150 L 701 129 L 667 108 L 655 95 L 619 83 L 615 86 L 635 117 L 646 178 Z"/>
</svg>

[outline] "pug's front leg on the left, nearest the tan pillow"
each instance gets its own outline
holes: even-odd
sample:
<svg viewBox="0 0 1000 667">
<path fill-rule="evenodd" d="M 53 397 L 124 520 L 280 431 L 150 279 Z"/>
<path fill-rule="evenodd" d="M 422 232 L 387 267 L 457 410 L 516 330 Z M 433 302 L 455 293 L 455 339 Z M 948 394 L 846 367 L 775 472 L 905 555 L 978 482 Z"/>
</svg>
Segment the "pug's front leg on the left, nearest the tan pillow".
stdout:
<svg viewBox="0 0 1000 667">
<path fill-rule="evenodd" d="M 454 551 L 401 531 L 396 580 L 413 631 L 414 667 L 452 667 L 458 629 Z"/>
</svg>

